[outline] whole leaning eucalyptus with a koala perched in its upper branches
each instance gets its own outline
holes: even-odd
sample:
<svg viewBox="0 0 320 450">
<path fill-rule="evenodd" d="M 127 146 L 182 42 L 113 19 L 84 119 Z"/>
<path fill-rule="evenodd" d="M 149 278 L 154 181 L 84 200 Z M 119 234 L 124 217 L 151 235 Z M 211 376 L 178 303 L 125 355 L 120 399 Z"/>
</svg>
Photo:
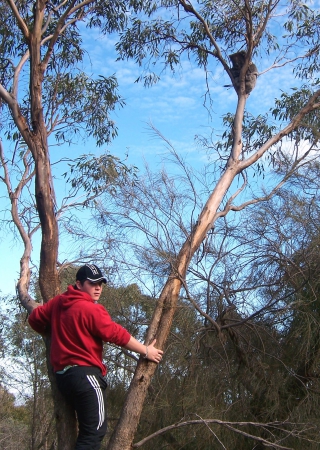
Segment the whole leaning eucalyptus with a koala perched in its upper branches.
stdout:
<svg viewBox="0 0 320 450">
<path fill-rule="evenodd" d="M 187 57 L 204 71 L 205 94 L 211 101 L 207 107 L 213 110 L 217 107 L 214 96 L 210 95 L 209 82 L 215 65 L 225 71 L 237 94 L 234 110 L 224 117 L 222 138 L 203 140 L 216 158 L 220 156 L 218 176 L 212 180 L 214 187 L 199 216 L 184 230 L 184 242 L 168 259 L 168 278 L 147 333 L 147 342 L 156 337 L 158 344 L 164 346 L 189 264 L 217 219 L 270 198 L 295 171 L 309 163 L 310 157 L 316 157 L 320 16 L 312 4 L 283 4 L 278 0 L 151 3 L 150 17 L 132 17 L 131 26 L 122 34 L 117 47 L 120 57 L 133 58 L 141 65 L 141 80 L 151 85 L 159 77 L 154 71 L 157 62 L 175 70 L 183 57 Z M 260 55 L 272 61 L 264 73 L 258 74 L 254 60 Z M 292 90 L 274 99 L 271 111 L 261 111 L 257 117 L 250 114 L 246 109 L 247 99 L 255 95 L 257 76 L 258 83 L 263 83 L 266 72 L 288 67 L 295 77 Z M 273 82 L 277 82 L 277 76 Z M 283 152 L 286 139 L 294 144 L 295 151 L 291 154 Z M 305 150 L 301 150 L 302 142 L 307 144 Z M 274 184 L 266 194 L 259 197 L 254 193 L 241 203 L 240 193 L 245 191 L 251 166 L 258 173 L 267 156 L 275 169 L 278 164 L 281 173 L 276 172 Z M 240 187 L 234 183 L 237 177 L 243 180 Z M 216 325 L 219 331 L 219 324 Z M 152 363 L 139 362 L 110 449 L 131 447 L 154 371 Z"/>
</svg>

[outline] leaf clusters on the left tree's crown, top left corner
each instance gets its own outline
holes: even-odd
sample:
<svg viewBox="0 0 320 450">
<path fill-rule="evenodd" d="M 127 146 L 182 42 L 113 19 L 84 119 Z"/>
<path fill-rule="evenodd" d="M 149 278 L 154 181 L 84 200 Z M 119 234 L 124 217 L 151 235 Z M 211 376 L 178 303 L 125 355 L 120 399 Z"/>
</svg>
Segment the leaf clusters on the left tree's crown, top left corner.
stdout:
<svg viewBox="0 0 320 450">
<path fill-rule="evenodd" d="M 70 2 L 56 5 L 45 5 L 45 16 L 42 30 L 42 61 L 47 61 L 43 78 L 42 91 L 43 113 L 48 133 L 55 133 L 58 143 L 74 142 L 79 135 L 92 136 L 97 145 L 109 142 L 117 135 L 116 124 L 109 114 L 116 106 L 123 106 L 124 101 L 117 93 L 118 84 L 114 75 L 91 78 L 81 69 L 84 61 L 82 35 L 78 25 L 80 20 L 86 20 L 88 27 L 99 26 L 102 33 L 112 33 L 123 29 L 127 20 L 126 2 L 94 1 L 75 8 L 74 14 L 68 17 L 69 25 L 65 27 L 55 45 L 52 38 L 60 32 L 64 25 Z M 34 2 L 25 0 L 19 2 L 18 9 L 21 17 L 33 30 Z M 27 55 L 29 42 L 21 37 L 17 21 L 7 4 L 0 6 L 0 76 L 1 83 L 8 90 L 14 88 L 16 82 L 14 71 L 19 59 Z M 48 58 L 48 60 L 46 60 Z M 21 112 L 27 119 L 30 128 L 31 103 L 29 93 L 28 73 L 30 65 L 27 62 L 19 73 L 19 100 Z M 17 77 L 17 73 L 15 74 Z M 12 118 L 4 115 L 2 127 L 7 139 L 13 139 Z"/>
</svg>

